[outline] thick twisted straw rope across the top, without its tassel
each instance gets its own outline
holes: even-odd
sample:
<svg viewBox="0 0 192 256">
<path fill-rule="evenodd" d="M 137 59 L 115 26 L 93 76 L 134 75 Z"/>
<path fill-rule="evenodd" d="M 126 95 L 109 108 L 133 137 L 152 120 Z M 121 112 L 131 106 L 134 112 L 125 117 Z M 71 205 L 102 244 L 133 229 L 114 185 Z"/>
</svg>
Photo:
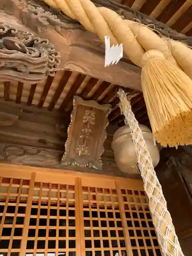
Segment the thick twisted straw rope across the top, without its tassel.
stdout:
<svg viewBox="0 0 192 256">
<path fill-rule="evenodd" d="M 166 59 L 192 78 L 192 51 L 181 42 L 160 37 L 145 25 L 123 20 L 115 11 L 96 7 L 90 0 L 43 0 L 53 8 L 78 20 L 84 28 L 96 33 L 104 42 L 109 35 L 111 44 L 123 44 L 127 56 L 135 65 L 143 67 L 143 54 L 148 50 L 162 52 Z"/>
</svg>

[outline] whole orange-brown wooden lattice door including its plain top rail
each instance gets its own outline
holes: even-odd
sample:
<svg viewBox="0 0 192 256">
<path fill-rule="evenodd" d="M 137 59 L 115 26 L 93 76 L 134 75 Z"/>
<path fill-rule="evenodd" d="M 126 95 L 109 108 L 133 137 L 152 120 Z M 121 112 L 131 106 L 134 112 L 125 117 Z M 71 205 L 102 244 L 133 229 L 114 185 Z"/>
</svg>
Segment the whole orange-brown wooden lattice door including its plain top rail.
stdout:
<svg viewBox="0 0 192 256">
<path fill-rule="evenodd" d="M 0 255 L 161 255 L 142 181 L 0 164 Z"/>
</svg>

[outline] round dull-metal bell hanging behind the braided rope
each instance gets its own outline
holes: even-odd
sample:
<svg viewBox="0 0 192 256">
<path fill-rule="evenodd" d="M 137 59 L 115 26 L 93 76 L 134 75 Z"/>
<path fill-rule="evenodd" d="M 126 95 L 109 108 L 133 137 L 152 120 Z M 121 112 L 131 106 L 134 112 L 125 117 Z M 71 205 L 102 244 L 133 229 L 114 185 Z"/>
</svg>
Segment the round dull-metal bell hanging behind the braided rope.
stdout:
<svg viewBox="0 0 192 256">
<path fill-rule="evenodd" d="M 152 157 L 153 166 L 156 167 L 159 163 L 158 146 L 154 143 L 153 134 L 148 127 L 139 124 L 144 140 L 146 142 L 148 151 Z M 115 161 L 117 167 L 127 174 L 139 174 L 137 167 L 137 155 L 135 153 L 135 146 L 131 137 L 130 126 L 124 125 L 120 127 L 113 136 L 112 148 L 114 151 Z"/>
</svg>

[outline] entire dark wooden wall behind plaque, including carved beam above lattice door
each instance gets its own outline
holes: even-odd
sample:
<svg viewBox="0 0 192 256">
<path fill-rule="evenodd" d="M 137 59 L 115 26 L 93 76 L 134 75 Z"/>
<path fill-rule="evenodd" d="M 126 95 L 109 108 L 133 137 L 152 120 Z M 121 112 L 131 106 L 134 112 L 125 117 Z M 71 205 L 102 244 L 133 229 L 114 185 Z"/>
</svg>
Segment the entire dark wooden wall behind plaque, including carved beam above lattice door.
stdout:
<svg viewBox="0 0 192 256">
<path fill-rule="evenodd" d="M 65 152 L 70 113 L 48 111 L 24 103 L 0 100 L 0 161 L 14 164 L 66 168 L 60 160 Z M 94 172 L 127 177 L 120 172 L 111 148 L 117 126 L 109 125 L 102 156 L 103 169 L 68 166 L 82 172 Z M 132 176 L 131 176 L 132 177 Z M 134 178 L 136 176 L 133 176 Z"/>
</svg>

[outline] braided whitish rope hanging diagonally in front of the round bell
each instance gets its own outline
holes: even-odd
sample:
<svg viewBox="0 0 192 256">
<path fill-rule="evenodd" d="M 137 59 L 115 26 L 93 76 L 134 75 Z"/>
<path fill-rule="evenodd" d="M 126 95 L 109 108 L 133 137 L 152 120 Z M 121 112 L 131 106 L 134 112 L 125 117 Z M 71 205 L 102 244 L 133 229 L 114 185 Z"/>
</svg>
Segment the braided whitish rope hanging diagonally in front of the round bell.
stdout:
<svg viewBox="0 0 192 256">
<path fill-rule="evenodd" d="M 132 112 L 130 100 L 127 99 L 124 91 L 121 89 L 118 91 L 118 95 L 121 112 L 125 116 L 125 123 L 130 126 L 137 154 L 138 167 L 144 182 L 144 190 L 148 196 L 153 223 L 163 255 L 184 256 L 175 232 L 172 217 L 167 210 L 166 200 L 163 196 L 161 184 L 156 176 L 152 158 L 148 152 L 138 121 Z"/>
</svg>

